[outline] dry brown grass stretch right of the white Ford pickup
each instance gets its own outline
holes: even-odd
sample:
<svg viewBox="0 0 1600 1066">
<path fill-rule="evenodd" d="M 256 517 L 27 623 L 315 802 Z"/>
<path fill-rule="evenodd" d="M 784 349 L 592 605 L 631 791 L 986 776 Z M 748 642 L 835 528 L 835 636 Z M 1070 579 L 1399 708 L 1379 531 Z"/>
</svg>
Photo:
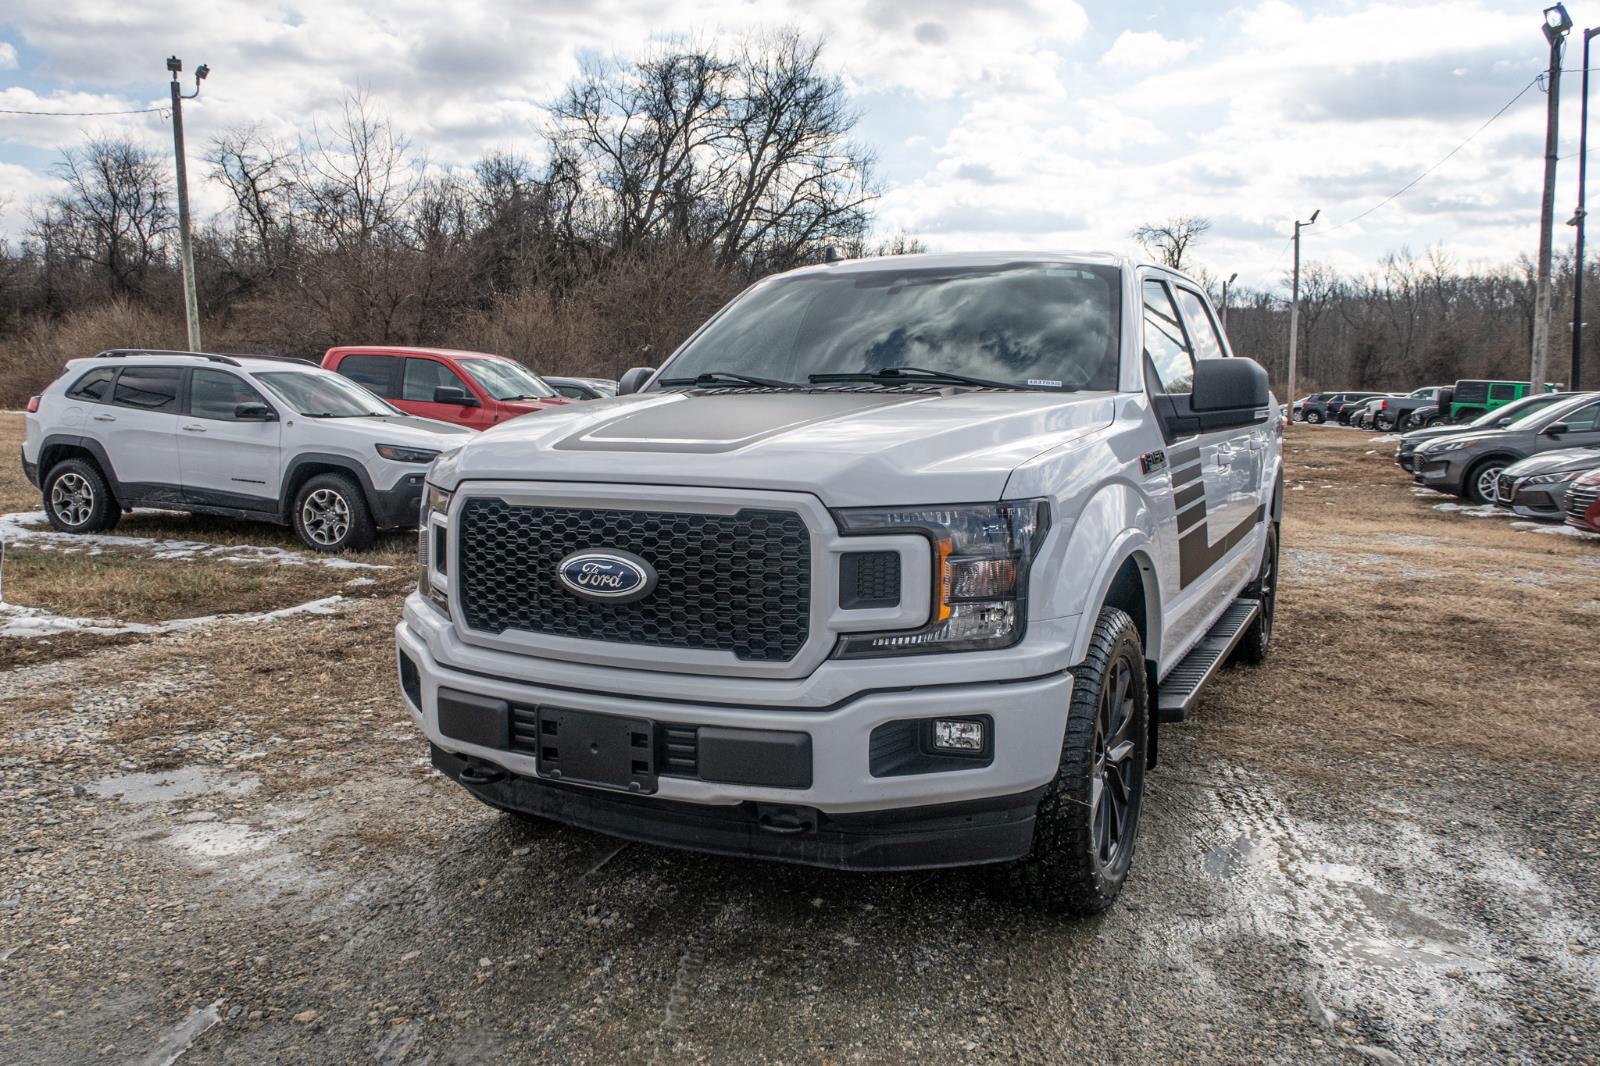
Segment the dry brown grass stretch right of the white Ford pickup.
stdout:
<svg viewBox="0 0 1600 1066">
<path fill-rule="evenodd" d="M 1296 426 L 1277 647 L 1205 699 L 1274 751 L 1600 759 L 1600 541 L 1440 512 L 1394 445 Z M 1368 455 L 1374 453 L 1374 455 Z M 1333 488 L 1325 488 L 1333 485 Z"/>
</svg>

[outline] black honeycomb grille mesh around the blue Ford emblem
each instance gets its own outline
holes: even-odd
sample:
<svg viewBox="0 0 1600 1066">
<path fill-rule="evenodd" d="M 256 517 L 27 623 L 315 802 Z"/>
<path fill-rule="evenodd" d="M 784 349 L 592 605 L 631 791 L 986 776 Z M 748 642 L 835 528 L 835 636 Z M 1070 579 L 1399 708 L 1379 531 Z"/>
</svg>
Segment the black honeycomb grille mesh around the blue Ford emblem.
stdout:
<svg viewBox="0 0 1600 1066">
<path fill-rule="evenodd" d="M 733 651 L 784 663 L 806 642 L 811 539 L 792 511 L 734 515 L 534 507 L 467 499 L 456 587 L 467 626 Z M 621 549 L 656 568 L 632 603 L 586 600 L 557 578 L 581 549 Z"/>
</svg>

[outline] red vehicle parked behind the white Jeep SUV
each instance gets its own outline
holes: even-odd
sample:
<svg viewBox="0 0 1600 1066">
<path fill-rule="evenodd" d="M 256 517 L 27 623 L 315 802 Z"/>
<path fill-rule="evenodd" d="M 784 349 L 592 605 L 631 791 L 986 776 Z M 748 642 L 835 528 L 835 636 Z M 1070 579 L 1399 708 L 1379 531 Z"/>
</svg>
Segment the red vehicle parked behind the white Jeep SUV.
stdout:
<svg viewBox="0 0 1600 1066">
<path fill-rule="evenodd" d="M 408 415 L 488 429 L 518 415 L 571 403 L 506 355 L 448 347 L 330 347 L 322 365 L 363 384 Z"/>
</svg>

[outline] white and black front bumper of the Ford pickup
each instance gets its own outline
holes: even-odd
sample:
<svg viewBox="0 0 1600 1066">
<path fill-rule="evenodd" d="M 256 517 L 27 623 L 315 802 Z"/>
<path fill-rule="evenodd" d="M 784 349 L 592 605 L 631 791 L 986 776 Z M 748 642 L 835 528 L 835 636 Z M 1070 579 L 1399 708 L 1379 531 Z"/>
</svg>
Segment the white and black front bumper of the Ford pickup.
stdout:
<svg viewBox="0 0 1600 1066">
<path fill-rule="evenodd" d="M 822 866 L 901 869 L 1024 855 L 1037 792 L 1059 765 L 1072 696 L 1070 672 L 1019 682 L 914 687 L 915 667 L 907 663 L 907 687 L 862 691 L 827 707 L 651 699 L 453 669 L 430 655 L 408 623 L 395 627 L 395 639 L 400 655 L 416 671 L 414 679 L 402 675 L 411 719 L 440 749 L 446 773 L 470 757 L 477 770 L 462 784 L 482 799 L 630 839 Z M 733 784 L 667 773 L 658 778 L 651 795 L 557 784 L 539 776 L 531 752 L 446 736 L 438 722 L 440 688 L 514 707 L 586 711 L 659 727 L 805 733 L 811 751 L 810 784 Z M 974 715 L 987 715 L 994 723 L 987 763 L 874 776 L 872 733 L 880 725 Z M 480 781 L 501 773 L 506 776 Z M 459 770 L 451 776 L 459 779 Z M 762 807 L 811 812 L 810 828 L 770 829 L 760 821 Z"/>
</svg>

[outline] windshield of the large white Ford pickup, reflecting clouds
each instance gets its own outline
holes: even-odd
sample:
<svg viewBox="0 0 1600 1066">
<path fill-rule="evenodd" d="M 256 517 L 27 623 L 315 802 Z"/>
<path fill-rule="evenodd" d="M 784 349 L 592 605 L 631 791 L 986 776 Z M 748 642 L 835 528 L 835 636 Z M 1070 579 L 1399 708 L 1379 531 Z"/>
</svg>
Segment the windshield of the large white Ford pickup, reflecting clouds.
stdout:
<svg viewBox="0 0 1600 1066">
<path fill-rule="evenodd" d="M 779 277 L 730 304 L 659 376 L 805 383 L 917 367 L 1024 389 L 1115 389 L 1120 293 L 1118 271 L 1101 266 Z"/>
</svg>

